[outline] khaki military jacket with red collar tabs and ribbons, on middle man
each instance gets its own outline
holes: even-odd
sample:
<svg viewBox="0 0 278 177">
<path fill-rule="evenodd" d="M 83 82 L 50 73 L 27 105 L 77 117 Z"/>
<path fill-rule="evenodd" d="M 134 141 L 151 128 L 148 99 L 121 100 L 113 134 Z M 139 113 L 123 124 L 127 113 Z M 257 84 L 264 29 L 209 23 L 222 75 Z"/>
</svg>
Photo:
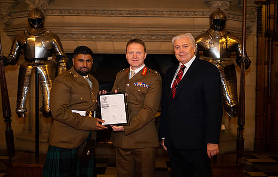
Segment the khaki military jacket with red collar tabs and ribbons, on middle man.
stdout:
<svg viewBox="0 0 278 177">
<path fill-rule="evenodd" d="M 129 79 L 129 68 L 118 72 L 112 91 L 126 91 L 130 125 L 122 132 L 112 132 L 111 142 L 123 149 L 158 147 L 155 114 L 161 101 L 160 75 L 144 67 Z"/>
</svg>

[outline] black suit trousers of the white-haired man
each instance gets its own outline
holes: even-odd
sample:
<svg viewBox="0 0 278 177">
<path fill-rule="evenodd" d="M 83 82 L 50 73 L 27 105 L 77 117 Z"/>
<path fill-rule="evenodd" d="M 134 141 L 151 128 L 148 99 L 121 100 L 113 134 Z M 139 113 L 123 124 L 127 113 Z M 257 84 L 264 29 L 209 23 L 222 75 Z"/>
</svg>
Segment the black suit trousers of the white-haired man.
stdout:
<svg viewBox="0 0 278 177">
<path fill-rule="evenodd" d="M 210 177 L 210 159 L 207 149 L 176 149 L 171 144 L 167 147 L 172 176 Z"/>
</svg>

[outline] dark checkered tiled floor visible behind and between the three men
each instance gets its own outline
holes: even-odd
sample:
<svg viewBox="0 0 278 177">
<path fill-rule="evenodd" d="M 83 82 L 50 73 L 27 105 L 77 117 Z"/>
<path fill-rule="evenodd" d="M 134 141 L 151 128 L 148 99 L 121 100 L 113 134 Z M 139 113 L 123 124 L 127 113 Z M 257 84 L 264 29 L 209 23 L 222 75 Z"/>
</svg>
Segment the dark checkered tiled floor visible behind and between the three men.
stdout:
<svg viewBox="0 0 278 177">
<path fill-rule="evenodd" d="M 255 154 L 245 153 L 244 176 L 269 176 L 278 177 L 278 154 Z M 4 161 L 8 160 L 5 154 L 0 153 L 0 177 L 5 176 L 7 167 Z M 116 177 L 115 158 L 97 157 L 97 174 L 98 177 Z M 156 159 L 155 177 L 170 176 L 171 168 L 167 157 L 158 157 Z"/>
</svg>

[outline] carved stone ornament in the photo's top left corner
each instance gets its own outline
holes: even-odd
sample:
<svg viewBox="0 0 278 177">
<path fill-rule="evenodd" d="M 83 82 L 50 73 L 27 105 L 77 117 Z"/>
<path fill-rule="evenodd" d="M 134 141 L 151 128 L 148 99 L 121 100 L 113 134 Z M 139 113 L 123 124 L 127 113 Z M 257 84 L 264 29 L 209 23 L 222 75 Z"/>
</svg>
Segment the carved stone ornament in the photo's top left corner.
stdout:
<svg viewBox="0 0 278 177">
<path fill-rule="evenodd" d="M 12 23 L 12 19 L 9 17 L 10 10 L 16 4 L 16 0 L 0 1 L 0 18 L 5 25 L 10 25 Z"/>
</svg>

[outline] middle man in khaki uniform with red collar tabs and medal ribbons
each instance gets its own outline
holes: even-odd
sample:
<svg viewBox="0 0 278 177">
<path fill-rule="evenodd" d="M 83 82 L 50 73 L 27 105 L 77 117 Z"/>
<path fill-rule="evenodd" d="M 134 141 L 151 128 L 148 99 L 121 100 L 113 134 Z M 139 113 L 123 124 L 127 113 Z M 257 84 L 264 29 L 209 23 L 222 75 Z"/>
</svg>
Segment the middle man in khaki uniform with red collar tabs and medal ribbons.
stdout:
<svg viewBox="0 0 278 177">
<path fill-rule="evenodd" d="M 146 46 L 141 39 L 126 44 L 130 67 L 121 70 L 112 91 L 126 91 L 130 125 L 112 126 L 118 177 L 154 176 L 155 147 L 159 146 L 154 116 L 162 94 L 161 77 L 144 64 Z"/>
</svg>

